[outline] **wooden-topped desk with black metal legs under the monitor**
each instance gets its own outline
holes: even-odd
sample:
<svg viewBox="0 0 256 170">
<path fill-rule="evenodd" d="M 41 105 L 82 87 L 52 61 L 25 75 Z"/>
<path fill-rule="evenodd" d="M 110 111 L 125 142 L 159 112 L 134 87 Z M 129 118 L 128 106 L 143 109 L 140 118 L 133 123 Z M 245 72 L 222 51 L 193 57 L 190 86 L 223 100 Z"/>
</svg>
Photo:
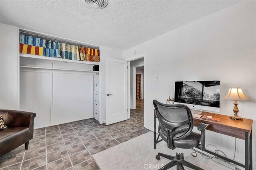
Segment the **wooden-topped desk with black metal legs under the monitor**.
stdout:
<svg viewBox="0 0 256 170">
<path fill-rule="evenodd" d="M 213 117 L 220 118 L 219 122 L 214 121 L 207 121 L 202 120 L 201 118 L 193 117 L 194 126 L 198 126 L 199 123 L 206 123 L 210 126 L 207 128 L 209 131 L 213 131 L 216 133 L 221 133 L 224 135 L 228 135 L 231 137 L 236 137 L 239 139 L 243 139 L 245 141 L 245 164 L 241 164 L 240 162 L 236 162 L 232 159 L 226 158 L 222 155 L 216 154 L 210 150 L 205 149 L 204 152 L 208 152 L 212 155 L 218 156 L 224 160 L 232 162 L 238 166 L 245 168 L 246 170 L 252 170 L 252 123 L 253 120 L 251 119 L 244 119 L 244 120 L 233 120 L 230 119 L 227 115 L 221 115 L 217 113 L 209 113 L 209 112 L 202 112 L 202 115 L 208 115 Z M 158 127 L 159 131 L 159 127 Z M 154 149 L 156 149 L 156 144 L 161 140 L 158 141 L 159 135 L 156 139 L 156 116 L 154 116 Z M 198 148 L 200 149 L 200 148 Z"/>
</svg>

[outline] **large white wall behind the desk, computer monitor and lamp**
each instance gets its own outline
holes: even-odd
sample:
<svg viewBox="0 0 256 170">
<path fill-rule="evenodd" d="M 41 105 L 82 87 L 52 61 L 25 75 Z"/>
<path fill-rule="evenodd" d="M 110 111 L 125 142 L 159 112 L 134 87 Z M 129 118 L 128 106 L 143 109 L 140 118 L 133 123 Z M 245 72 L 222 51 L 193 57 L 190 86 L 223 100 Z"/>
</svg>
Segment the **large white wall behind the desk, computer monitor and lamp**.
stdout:
<svg viewBox="0 0 256 170">
<path fill-rule="evenodd" d="M 250 101 L 239 102 L 239 115 L 254 119 L 253 165 L 256 139 L 256 10 L 255 1 L 233 6 L 124 51 L 124 59 L 144 57 L 144 125 L 153 130 L 152 100 L 174 96 L 175 81 L 220 80 L 220 113 L 233 114 L 233 101 L 223 100 L 229 87 L 242 87 Z M 158 76 L 158 81 L 154 77 Z M 234 156 L 235 139 L 207 131 L 206 141 Z M 236 139 L 235 160 L 244 162 L 244 141 Z"/>
</svg>

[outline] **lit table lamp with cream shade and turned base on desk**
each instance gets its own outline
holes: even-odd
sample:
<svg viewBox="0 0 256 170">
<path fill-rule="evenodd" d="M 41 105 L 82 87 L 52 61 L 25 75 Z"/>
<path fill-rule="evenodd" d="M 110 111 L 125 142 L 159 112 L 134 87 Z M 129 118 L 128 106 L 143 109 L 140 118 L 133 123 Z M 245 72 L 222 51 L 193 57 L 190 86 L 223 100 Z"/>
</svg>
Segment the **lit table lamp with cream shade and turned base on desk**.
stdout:
<svg viewBox="0 0 256 170">
<path fill-rule="evenodd" d="M 243 91 L 242 91 L 242 88 L 240 87 L 236 87 L 236 88 L 229 88 L 228 90 L 228 94 L 223 98 L 223 99 L 226 99 L 226 100 L 234 100 L 234 115 L 230 116 L 231 119 L 234 119 L 234 120 L 243 120 L 242 117 L 238 116 L 238 107 L 237 107 L 237 101 L 240 100 L 250 100 L 247 96 L 244 95 Z"/>
</svg>

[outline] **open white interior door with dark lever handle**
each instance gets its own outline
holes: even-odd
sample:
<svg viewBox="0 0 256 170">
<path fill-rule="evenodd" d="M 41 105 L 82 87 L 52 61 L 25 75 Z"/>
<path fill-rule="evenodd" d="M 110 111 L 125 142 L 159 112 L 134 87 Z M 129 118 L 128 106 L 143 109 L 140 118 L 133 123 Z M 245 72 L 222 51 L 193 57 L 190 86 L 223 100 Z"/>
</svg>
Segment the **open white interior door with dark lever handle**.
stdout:
<svg viewBox="0 0 256 170">
<path fill-rule="evenodd" d="M 106 58 L 106 125 L 127 118 L 127 61 Z"/>
</svg>

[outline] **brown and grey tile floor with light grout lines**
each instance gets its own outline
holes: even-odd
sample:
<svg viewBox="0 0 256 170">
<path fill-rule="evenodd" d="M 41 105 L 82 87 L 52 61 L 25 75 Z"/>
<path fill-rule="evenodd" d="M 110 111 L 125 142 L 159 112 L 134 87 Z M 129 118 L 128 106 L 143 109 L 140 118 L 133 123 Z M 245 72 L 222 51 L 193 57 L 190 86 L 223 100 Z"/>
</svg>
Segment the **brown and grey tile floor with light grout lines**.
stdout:
<svg viewBox="0 0 256 170">
<path fill-rule="evenodd" d="M 92 118 L 35 129 L 29 149 L 22 145 L 2 156 L 0 170 L 97 170 L 93 154 L 148 132 L 143 103 L 137 100 L 131 118 L 112 125 Z"/>
</svg>

